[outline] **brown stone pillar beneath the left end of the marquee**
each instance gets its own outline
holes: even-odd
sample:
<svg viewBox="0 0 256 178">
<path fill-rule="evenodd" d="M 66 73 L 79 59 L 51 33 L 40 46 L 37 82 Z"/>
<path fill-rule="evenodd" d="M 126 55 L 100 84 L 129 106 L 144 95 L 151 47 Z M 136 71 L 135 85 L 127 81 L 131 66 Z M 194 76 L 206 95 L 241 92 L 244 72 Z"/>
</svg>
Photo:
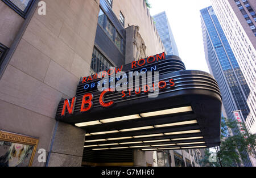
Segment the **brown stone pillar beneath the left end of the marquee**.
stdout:
<svg viewBox="0 0 256 178">
<path fill-rule="evenodd" d="M 63 122 L 56 122 L 48 167 L 80 167 L 84 151 L 85 130 Z"/>
</svg>

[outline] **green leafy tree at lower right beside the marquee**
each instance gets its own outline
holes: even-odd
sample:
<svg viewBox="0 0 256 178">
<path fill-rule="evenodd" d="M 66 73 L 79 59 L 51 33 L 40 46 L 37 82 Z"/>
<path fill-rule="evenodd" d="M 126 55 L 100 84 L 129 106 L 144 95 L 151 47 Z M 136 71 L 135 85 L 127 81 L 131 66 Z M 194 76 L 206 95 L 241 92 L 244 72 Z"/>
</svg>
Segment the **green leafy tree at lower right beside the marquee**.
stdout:
<svg viewBox="0 0 256 178">
<path fill-rule="evenodd" d="M 214 152 L 206 149 L 201 163 L 204 166 L 233 167 L 241 165 L 242 160 L 247 159 L 247 154 L 255 158 L 255 150 L 253 148 L 256 146 L 256 135 L 248 133 L 243 123 L 227 121 L 226 118 L 222 118 L 222 120 L 225 120 L 225 122 L 221 123 L 221 145 L 214 147 L 217 162 L 209 161 L 209 156 Z M 241 124 L 245 132 L 233 136 L 229 135 L 228 128 L 238 130 L 238 124 Z"/>
</svg>

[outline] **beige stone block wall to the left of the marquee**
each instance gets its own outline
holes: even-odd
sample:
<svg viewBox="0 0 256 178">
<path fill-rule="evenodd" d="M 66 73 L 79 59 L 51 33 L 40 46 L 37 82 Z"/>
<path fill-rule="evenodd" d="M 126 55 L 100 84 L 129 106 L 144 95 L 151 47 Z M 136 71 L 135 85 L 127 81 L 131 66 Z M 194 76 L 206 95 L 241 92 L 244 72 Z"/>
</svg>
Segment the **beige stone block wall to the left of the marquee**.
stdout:
<svg viewBox="0 0 256 178">
<path fill-rule="evenodd" d="M 0 80 L 0 129 L 37 137 L 38 149 L 48 152 L 59 101 L 61 98 L 73 97 L 80 77 L 89 74 L 99 0 L 45 2 L 47 14 L 38 15 L 38 11 L 35 11 Z M 2 18 L 3 11 L 9 14 L 9 11 L 13 11 L 2 1 L 0 9 L 0 42 L 10 46 L 15 35 L 3 32 L 6 28 L 10 29 L 9 32 L 18 31 L 19 26 L 15 22 L 22 19 L 18 14 Z M 10 22 L 6 20 L 9 18 Z M 3 27 L 2 24 L 8 25 Z M 84 131 L 69 128 L 64 132 L 63 128 L 69 126 L 59 123 L 53 142 L 55 153 L 51 154 L 49 166 L 72 166 L 67 160 L 72 160 L 73 166 L 79 166 Z M 72 152 L 72 144 L 69 147 L 65 145 L 65 139 L 60 137 L 64 133 L 69 135 L 65 137 L 67 142 L 72 140 L 80 143 L 76 152 Z M 57 164 L 53 161 L 55 159 L 60 162 Z M 39 164 L 35 156 L 33 166 L 44 164 Z"/>
</svg>

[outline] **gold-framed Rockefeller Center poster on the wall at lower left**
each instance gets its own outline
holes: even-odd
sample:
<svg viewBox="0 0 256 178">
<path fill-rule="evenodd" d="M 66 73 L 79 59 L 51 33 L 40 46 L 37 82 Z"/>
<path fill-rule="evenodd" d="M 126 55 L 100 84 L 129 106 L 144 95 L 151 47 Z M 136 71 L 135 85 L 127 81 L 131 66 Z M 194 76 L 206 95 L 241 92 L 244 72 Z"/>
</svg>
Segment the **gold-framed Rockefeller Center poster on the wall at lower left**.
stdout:
<svg viewBox="0 0 256 178">
<path fill-rule="evenodd" d="M 30 167 L 39 139 L 0 130 L 0 167 Z"/>
</svg>

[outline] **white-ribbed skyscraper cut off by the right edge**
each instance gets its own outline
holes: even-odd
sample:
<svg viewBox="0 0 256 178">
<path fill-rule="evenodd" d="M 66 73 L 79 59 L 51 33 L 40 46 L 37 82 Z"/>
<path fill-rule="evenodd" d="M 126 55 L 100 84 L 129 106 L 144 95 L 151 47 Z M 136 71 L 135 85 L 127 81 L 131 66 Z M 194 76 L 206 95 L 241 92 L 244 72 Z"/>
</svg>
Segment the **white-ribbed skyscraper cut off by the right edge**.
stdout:
<svg viewBox="0 0 256 178">
<path fill-rule="evenodd" d="M 250 88 L 247 129 L 256 133 L 256 2 L 212 0 L 213 9 Z"/>
</svg>

